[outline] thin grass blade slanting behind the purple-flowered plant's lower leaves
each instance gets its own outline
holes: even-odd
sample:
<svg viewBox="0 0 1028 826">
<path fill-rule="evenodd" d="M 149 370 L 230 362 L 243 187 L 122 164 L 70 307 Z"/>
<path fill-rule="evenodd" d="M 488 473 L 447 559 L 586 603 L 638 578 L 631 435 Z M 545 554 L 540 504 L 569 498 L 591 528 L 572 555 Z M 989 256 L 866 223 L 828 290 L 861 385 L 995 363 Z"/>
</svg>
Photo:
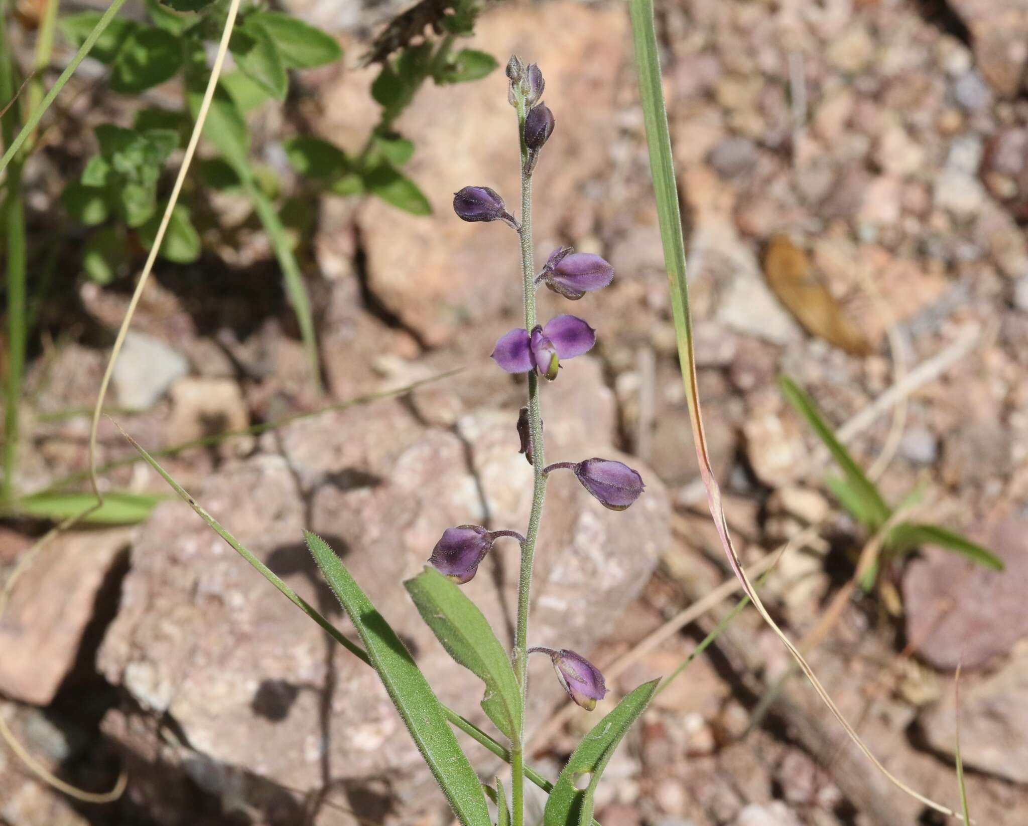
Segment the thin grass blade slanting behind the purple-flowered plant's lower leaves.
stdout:
<svg viewBox="0 0 1028 826">
<path fill-rule="evenodd" d="M 303 414 L 304 416 L 310 414 Z M 317 415 L 317 412 L 313 415 Z M 121 429 L 118 427 L 118 429 Z M 121 435 L 128 441 L 128 443 L 136 449 L 143 461 L 149 464 L 164 482 L 168 483 L 169 487 L 174 490 L 179 497 L 186 502 L 196 515 L 203 519 L 208 526 L 217 533 L 222 539 L 227 542 L 229 548 L 231 548 L 236 554 L 238 554 L 243 559 L 245 559 L 261 576 L 267 579 L 279 593 L 281 593 L 286 599 L 292 602 L 297 608 L 303 611 L 307 616 L 314 620 L 321 628 L 342 645 L 347 651 L 350 651 L 354 656 L 360 660 L 365 665 L 370 666 L 371 661 L 368 655 L 364 652 L 360 645 L 355 643 L 353 640 L 348 639 L 339 629 L 333 626 L 328 620 L 319 613 L 318 609 L 315 608 L 310 603 L 299 596 L 293 589 L 286 585 L 283 579 L 281 579 L 278 574 L 274 573 L 270 568 L 267 567 L 263 562 L 257 559 L 256 556 L 238 539 L 236 539 L 230 531 L 228 531 L 218 520 L 212 517 L 199 503 L 190 496 L 185 489 L 176 482 L 172 476 L 160 465 L 160 463 L 153 458 L 149 453 L 147 453 L 139 443 L 136 442 L 128 434 L 121 430 Z M 492 752 L 497 757 L 503 760 L 505 763 L 510 764 L 511 755 L 510 751 L 506 749 L 501 743 L 498 743 L 491 737 L 489 737 L 485 731 L 479 728 L 470 720 L 457 714 L 450 708 L 443 706 L 443 711 L 446 714 L 446 719 L 449 720 L 450 724 L 456 728 L 460 728 L 468 737 L 478 743 L 480 746 L 484 747 L 488 751 Z M 553 784 L 550 783 L 546 778 L 544 778 L 539 772 L 529 766 L 525 766 L 524 776 L 528 778 L 529 781 L 535 783 L 544 792 L 549 794 L 553 789 Z M 599 826 L 596 821 L 593 821 L 593 826 Z"/>
</svg>

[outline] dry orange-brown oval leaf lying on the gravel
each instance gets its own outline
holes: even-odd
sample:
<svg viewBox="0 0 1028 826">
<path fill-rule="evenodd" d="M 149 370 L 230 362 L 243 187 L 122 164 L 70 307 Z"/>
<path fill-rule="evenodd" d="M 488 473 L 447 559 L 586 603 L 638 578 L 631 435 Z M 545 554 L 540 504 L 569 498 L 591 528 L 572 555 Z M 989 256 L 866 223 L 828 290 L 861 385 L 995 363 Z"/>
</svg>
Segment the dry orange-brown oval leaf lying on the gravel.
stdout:
<svg viewBox="0 0 1028 826">
<path fill-rule="evenodd" d="M 817 277 L 807 254 L 784 235 L 768 243 L 764 275 L 808 333 L 853 355 L 871 352 L 868 337 Z"/>
</svg>

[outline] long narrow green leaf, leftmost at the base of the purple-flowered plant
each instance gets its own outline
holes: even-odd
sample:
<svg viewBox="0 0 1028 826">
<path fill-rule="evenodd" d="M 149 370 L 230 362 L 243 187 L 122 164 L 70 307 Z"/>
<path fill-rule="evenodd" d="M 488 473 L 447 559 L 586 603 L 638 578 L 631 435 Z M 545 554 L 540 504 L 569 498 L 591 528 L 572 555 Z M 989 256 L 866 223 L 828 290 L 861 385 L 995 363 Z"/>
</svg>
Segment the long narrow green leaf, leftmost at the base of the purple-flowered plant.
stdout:
<svg viewBox="0 0 1028 826">
<path fill-rule="evenodd" d="M 328 543 L 309 531 L 305 537 L 318 567 L 350 615 L 371 665 L 453 814 L 464 826 L 491 826 L 478 777 L 413 658 Z"/>
</svg>

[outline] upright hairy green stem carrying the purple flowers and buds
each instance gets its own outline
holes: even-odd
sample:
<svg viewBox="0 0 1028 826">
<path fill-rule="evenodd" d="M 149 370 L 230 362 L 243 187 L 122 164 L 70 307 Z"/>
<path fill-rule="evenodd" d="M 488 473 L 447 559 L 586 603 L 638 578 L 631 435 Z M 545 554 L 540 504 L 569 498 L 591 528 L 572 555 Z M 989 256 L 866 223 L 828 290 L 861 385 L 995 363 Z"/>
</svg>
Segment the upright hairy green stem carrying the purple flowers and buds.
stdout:
<svg viewBox="0 0 1028 826">
<path fill-rule="evenodd" d="M 521 273 L 524 278 L 524 328 L 531 333 L 536 326 L 536 262 L 531 243 L 531 171 L 528 168 L 528 147 L 524 143 L 524 101 L 517 104 L 518 140 L 521 145 Z M 535 484 L 531 492 L 531 512 L 528 516 L 528 530 L 521 543 L 521 573 L 517 588 L 517 631 L 514 641 L 514 666 L 521 686 L 521 731 L 524 741 L 524 716 L 528 696 L 528 610 L 531 598 L 531 563 L 536 553 L 536 537 L 539 522 L 543 517 L 543 500 L 546 498 L 546 457 L 543 449 L 543 419 L 539 408 L 539 376 L 535 370 L 528 371 L 528 439 L 531 443 L 531 461 Z M 514 756 L 514 755 L 512 755 Z M 523 779 L 520 755 L 513 767 L 513 819 L 514 826 L 522 826 L 524 819 Z"/>
</svg>

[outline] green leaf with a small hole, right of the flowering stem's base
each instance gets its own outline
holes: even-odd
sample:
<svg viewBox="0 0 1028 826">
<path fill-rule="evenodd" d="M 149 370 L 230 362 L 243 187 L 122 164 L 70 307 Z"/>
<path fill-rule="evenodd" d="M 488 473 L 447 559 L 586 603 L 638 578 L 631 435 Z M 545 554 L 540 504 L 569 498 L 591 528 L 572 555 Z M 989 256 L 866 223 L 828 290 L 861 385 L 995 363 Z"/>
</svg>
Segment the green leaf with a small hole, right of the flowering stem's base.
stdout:
<svg viewBox="0 0 1028 826">
<path fill-rule="evenodd" d="M 592 799 L 600 775 L 618 744 L 649 705 L 659 682 L 642 683 L 582 739 L 546 801 L 545 826 L 588 826 L 592 821 Z M 591 773 L 589 786 L 584 791 L 576 789 L 575 779 L 586 772 Z"/>
</svg>

